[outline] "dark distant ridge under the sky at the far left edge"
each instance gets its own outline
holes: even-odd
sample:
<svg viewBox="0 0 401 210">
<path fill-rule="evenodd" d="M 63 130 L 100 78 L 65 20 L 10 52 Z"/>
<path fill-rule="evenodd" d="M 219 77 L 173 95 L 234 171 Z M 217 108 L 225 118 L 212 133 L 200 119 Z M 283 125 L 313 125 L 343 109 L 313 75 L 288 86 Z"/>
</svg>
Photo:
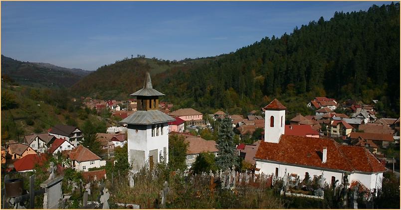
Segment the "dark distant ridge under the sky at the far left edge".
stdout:
<svg viewBox="0 0 401 210">
<path fill-rule="evenodd" d="M 69 88 L 90 72 L 68 69 L 46 63 L 29 63 L 1 55 L 1 75 L 7 75 L 17 84 L 37 88 Z"/>
</svg>

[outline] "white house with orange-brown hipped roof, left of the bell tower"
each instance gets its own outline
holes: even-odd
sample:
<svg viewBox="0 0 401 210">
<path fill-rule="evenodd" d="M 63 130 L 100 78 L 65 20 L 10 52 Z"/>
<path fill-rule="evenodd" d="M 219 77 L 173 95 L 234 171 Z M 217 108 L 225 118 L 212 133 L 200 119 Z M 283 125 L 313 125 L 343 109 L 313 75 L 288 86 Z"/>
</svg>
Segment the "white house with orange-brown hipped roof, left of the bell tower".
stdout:
<svg viewBox="0 0 401 210">
<path fill-rule="evenodd" d="M 99 168 L 106 165 L 95 153 L 86 147 L 79 145 L 72 150 L 65 150 L 64 153 L 71 161 L 70 167 L 78 171 L 88 171 L 90 168 Z"/>
</svg>

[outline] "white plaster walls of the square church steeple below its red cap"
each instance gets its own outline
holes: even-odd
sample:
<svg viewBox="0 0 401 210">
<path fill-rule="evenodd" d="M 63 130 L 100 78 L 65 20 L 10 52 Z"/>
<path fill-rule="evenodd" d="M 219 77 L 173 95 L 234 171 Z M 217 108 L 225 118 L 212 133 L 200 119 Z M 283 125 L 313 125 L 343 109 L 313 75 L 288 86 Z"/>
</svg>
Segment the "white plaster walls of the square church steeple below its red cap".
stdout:
<svg viewBox="0 0 401 210">
<path fill-rule="evenodd" d="M 270 117 L 274 117 L 274 127 L 270 127 Z M 283 121 L 281 123 L 281 116 Z M 285 128 L 285 110 L 266 110 L 264 118 L 264 141 L 278 143 L 280 136 L 284 134 Z"/>
</svg>

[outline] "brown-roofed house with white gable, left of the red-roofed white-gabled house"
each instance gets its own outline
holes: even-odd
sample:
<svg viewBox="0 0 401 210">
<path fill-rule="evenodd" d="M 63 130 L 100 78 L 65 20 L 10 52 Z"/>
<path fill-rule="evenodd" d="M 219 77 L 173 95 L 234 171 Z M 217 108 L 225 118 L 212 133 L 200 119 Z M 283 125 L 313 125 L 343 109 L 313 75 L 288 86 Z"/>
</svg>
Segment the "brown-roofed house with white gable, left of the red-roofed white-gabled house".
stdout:
<svg viewBox="0 0 401 210">
<path fill-rule="evenodd" d="M 25 135 L 23 137 L 23 142 L 29 145 L 36 152 L 43 153 L 46 152 L 48 145 L 50 145 L 54 139 L 56 139 L 56 137 L 48 133 L 32 133 Z"/>
</svg>

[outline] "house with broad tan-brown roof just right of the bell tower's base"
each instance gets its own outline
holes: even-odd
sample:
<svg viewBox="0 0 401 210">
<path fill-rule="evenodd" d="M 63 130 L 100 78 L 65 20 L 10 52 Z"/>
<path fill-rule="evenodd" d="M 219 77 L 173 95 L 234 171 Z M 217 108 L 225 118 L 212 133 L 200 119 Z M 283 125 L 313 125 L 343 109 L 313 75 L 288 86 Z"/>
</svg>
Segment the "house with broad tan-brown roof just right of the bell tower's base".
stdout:
<svg viewBox="0 0 401 210">
<path fill-rule="evenodd" d="M 188 143 L 187 157 L 185 163 L 187 164 L 188 168 L 191 168 L 199 154 L 201 154 L 202 152 L 213 153 L 214 156 L 217 156 L 218 150 L 216 148 L 215 141 L 208 141 L 201 138 L 201 136 L 193 136 L 190 133 L 173 133 L 185 136 L 185 142 Z"/>
</svg>

